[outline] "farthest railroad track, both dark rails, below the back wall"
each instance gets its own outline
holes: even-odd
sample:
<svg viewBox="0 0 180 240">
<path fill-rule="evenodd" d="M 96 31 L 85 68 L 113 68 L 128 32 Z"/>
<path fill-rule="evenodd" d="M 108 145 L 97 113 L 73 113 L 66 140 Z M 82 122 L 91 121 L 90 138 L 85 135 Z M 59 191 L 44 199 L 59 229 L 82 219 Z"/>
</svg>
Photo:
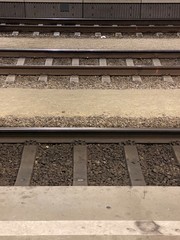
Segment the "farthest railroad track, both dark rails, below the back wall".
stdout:
<svg viewBox="0 0 180 240">
<path fill-rule="evenodd" d="M 0 18 L 1 32 L 179 33 L 178 20 L 12 19 Z"/>
</svg>

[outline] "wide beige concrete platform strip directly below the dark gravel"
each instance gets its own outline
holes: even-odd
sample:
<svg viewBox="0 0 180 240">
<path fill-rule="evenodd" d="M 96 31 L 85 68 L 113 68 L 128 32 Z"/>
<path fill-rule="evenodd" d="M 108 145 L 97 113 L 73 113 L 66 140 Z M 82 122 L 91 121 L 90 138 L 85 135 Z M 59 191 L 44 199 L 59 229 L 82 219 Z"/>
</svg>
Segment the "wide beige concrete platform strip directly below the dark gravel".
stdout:
<svg viewBox="0 0 180 240">
<path fill-rule="evenodd" d="M 179 187 L 0 187 L 0 222 L 179 222 L 179 202 Z"/>
</svg>

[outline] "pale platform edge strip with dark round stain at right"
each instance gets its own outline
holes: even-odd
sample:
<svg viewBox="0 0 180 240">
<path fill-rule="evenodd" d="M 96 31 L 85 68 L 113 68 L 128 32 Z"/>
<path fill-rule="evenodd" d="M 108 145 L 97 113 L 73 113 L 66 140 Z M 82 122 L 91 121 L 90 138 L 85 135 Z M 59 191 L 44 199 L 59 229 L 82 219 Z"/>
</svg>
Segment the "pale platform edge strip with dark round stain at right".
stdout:
<svg viewBox="0 0 180 240">
<path fill-rule="evenodd" d="M 180 221 L 1 221 L 0 236 L 180 236 Z"/>
</svg>

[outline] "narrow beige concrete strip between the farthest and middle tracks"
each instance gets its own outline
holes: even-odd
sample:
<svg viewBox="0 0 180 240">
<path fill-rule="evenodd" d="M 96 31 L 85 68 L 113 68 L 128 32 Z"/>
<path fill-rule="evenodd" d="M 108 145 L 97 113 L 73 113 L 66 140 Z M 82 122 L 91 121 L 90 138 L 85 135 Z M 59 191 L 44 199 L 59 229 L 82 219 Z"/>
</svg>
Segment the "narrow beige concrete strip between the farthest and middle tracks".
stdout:
<svg viewBox="0 0 180 240">
<path fill-rule="evenodd" d="M 179 50 L 179 39 L 117 38 L 33 38 L 1 37 L 0 48 Z"/>
</svg>

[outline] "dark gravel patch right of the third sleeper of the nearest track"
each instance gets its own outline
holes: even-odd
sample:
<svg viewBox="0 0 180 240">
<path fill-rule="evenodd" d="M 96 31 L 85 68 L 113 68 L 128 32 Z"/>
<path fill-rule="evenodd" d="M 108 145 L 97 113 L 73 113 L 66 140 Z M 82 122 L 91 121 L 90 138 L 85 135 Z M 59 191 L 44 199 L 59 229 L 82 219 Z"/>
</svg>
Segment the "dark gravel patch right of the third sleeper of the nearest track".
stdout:
<svg viewBox="0 0 180 240">
<path fill-rule="evenodd" d="M 142 144 L 138 153 L 147 185 L 180 186 L 180 165 L 170 145 Z"/>
</svg>

